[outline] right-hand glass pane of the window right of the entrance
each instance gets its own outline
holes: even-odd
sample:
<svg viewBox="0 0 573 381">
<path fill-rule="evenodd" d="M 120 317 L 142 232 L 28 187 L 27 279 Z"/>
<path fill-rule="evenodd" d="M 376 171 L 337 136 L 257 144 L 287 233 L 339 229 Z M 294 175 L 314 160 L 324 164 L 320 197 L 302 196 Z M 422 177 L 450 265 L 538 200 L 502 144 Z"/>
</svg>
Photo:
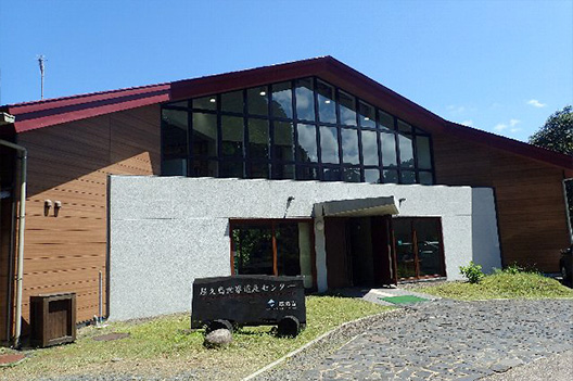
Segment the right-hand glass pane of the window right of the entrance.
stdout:
<svg viewBox="0 0 573 381">
<path fill-rule="evenodd" d="M 415 219 L 413 229 L 418 241 L 419 276 L 444 275 L 438 220 L 435 218 Z"/>
</svg>

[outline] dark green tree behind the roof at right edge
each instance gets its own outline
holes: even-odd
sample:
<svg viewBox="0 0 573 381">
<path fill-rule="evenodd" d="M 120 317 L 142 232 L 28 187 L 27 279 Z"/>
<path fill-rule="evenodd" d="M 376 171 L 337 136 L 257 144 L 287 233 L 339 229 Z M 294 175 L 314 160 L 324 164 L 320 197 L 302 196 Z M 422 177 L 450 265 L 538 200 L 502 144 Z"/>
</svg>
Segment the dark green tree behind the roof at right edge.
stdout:
<svg viewBox="0 0 573 381">
<path fill-rule="evenodd" d="M 530 143 L 573 155 L 573 110 L 571 105 L 549 116 L 545 125 L 530 137 Z"/>
</svg>

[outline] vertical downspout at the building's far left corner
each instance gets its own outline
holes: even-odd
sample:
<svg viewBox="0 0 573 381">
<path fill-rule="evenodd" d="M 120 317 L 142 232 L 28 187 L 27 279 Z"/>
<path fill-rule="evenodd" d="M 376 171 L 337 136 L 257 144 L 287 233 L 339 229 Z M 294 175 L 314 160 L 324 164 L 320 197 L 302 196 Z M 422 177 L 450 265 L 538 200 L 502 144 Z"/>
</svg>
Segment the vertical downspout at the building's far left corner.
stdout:
<svg viewBox="0 0 573 381">
<path fill-rule="evenodd" d="M 26 175 L 27 175 L 27 161 L 28 151 L 18 144 L 14 144 L 10 141 L 1 140 L 0 144 L 14 149 L 20 152 L 21 165 L 21 177 L 20 177 L 20 207 L 18 207 L 18 251 L 16 257 L 16 316 L 15 316 L 15 333 L 14 333 L 14 347 L 18 348 L 21 345 L 20 336 L 22 334 L 22 279 L 24 276 L 24 230 L 26 228 Z"/>
</svg>

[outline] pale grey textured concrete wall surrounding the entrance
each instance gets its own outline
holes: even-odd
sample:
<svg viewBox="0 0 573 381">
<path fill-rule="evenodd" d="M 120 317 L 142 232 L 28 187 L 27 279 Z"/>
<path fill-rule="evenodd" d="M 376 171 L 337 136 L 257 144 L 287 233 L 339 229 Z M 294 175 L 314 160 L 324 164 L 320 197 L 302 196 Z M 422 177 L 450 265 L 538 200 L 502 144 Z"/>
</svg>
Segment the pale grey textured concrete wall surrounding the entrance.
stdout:
<svg viewBox="0 0 573 381">
<path fill-rule="evenodd" d="M 499 257 L 495 218 L 472 218 L 473 211 L 494 211 L 489 189 L 474 195 L 469 187 L 140 176 L 110 182 L 110 318 L 116 320 L 189 310 L 194 278 L 230 275 L 229 218 L 311 217 L 317 202 L 393 195 L 405 199 L 400 216 L 442 217 L 449 279 L 459 279 L 458 266 L 474 255 Z M 492 231 L 495 240 L 472 240 Z M 315 229 L 315 250 L 324 290 L 322 230 Z"/>
</svg>

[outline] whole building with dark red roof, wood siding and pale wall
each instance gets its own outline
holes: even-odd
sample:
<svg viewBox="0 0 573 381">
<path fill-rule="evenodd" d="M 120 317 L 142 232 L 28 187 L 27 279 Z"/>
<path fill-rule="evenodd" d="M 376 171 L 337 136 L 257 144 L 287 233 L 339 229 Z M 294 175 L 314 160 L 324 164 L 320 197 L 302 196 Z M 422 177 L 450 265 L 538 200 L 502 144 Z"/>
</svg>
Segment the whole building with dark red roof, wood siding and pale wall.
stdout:
<svg viewBox="0 0 573 381">
<path fill-rule="evenodd" d="M 0 112 L 15 117 L 0 139 L 27 150 L 24 332 L 40 293 L 123 319 L 189 309 L 199 276 L 324 290 L 456 279 L 472 259 L 553 272 L 571 241 L 570 156 L 445 120 L 330 56 Z M 21 160 L 0 155 L 5 341 Z"/>
</svg>

